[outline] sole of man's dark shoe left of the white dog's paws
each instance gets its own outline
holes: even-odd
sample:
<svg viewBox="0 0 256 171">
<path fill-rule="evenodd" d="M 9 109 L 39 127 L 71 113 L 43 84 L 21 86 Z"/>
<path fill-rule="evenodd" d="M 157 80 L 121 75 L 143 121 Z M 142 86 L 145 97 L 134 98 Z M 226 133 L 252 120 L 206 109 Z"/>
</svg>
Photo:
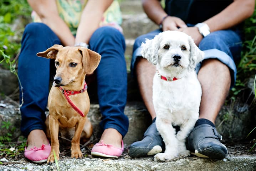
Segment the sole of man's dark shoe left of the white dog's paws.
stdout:
<svg viewBox="0 0 256 171">
<path fill-rule="evenodd" d="M 128 154 L 132 158 L 147 157 L 162 152 L 162 147 L 160 145 L 155 145 L 151 150 L 148 150 L 148 148 L 130 146 Z"/>
</svg>

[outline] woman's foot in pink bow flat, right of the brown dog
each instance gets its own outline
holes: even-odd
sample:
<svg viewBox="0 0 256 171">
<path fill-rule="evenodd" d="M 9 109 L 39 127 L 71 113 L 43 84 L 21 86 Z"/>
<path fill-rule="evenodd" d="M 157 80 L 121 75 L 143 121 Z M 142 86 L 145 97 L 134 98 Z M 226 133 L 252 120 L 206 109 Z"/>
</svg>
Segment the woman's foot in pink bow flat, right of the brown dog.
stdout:
<svg viewBox="0 0 256 171">
<path fill-rule="evenodd" d="M 101 139 L 91 151 L 91 155 L 105 158 L 118 158 L 124 150 L 122 135 L 113 128 L 105 129 Z"/>
</svg>

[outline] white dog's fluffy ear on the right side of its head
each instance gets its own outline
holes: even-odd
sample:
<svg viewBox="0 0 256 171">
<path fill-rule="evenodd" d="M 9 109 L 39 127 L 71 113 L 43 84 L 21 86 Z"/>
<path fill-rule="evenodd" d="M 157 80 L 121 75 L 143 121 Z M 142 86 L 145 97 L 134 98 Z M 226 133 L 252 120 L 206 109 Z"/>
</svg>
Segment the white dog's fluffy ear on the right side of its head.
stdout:
<svg viewBox="0 0 256 171">
<path fill-rule="evenodd" d="M 204 52 L 201 51 L 194 43 L 194 40 L 189 36 L 190 57 L 189 57 L 189 70 L 194 70 L 198 62 L 204 59 Z"/>
</svg>

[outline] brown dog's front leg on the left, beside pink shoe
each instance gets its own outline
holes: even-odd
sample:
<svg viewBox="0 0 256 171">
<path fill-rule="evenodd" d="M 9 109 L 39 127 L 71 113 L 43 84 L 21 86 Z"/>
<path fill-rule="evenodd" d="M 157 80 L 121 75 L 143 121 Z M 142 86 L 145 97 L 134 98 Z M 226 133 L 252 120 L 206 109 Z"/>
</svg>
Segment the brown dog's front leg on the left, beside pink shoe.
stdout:
<svg viewBox="0 0 256 171">
<path fill-rule="evenodd" d="M 53 151 L 56 154 L 57 160 L 60 159 L 60 143 L 58 141 L 58 132 L 59 132 L 59 122 L 56 118 L 49 115 L 49 129 L 51 134 L 51 153 L 48 156 L 47 163 L 54 162 L 54 155 Z"/>
</svg>

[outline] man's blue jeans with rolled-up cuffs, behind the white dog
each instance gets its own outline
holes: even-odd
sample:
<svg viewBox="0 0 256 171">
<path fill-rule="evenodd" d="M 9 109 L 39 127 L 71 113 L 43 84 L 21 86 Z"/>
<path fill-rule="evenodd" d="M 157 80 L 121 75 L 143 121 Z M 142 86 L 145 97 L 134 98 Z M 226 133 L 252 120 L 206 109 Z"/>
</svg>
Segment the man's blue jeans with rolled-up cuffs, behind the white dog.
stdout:
<svg viewBox="0 0 256 171">
<path fill-rule="evenodd" d="M 188 26 L 192 26 L 188 24 Z M 155 35 L 162 32 L 162 30 L 157 29 L 150 33 L 139 36 L 133 45 L 133 56 L 131 62 L 131 73 L 134 75 L 134 65 L 137 57 L 141 56 L 142 42 L 145 43 L 145 38 L 153 39 Z M 235 61 L 239 60 L 241 57 L 242 50 L 242 40 L 241 35 L 238 30 L 234 31 L 231 29 L 220 30 L 210 33 L 207 37 L 203 38 L 199 43 L 199 49 L 204 51 L 205 59 L 217 59 L 227 65 L 230 69 L 231 75 L 231 87 L 235 85 L 236 81 L 236 65 Z M 200 70 L 201 63 L 196 66 L 196 71 Z"/>
</svg>

